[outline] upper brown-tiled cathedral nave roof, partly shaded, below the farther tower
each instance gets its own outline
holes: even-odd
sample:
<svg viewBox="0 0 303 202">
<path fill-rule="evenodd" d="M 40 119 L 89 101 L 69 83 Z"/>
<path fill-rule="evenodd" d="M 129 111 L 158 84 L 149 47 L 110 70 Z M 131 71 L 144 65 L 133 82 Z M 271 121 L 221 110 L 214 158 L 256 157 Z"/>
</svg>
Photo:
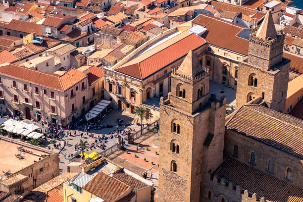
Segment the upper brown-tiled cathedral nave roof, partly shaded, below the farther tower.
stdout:
<svg viewBox="0 0 303 202">
<path fill-rule="evenodd" d="M 226 128 L 303 159 L 303 121 L 260 105 L 243 105 Z"/>
</svg>

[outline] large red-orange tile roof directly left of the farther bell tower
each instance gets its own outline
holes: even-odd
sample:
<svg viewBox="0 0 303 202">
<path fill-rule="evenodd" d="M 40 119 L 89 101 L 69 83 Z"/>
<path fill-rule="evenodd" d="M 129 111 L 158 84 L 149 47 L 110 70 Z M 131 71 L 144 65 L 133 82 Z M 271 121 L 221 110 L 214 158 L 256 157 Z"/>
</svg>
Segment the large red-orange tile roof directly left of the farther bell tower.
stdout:
<svg viewBox="0 0 303 202">
<path fill-rule="evenodd" d="M 193 20 L 193 23 L 207 29 L 202 35 L 207 43 L 248 55 L 249 41 L 237 36 L 245 27 L 210 15 L 201 14 Z"/>
</svg>

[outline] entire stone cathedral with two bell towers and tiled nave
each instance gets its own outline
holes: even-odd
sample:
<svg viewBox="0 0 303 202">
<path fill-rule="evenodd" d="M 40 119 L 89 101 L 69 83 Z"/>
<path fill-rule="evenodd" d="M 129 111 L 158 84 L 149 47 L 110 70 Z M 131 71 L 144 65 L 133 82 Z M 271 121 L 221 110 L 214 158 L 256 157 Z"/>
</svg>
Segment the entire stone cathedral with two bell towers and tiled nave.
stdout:
<svg viewBox="0 0 303 202">
<path fill-rule="evenodd" d="M 283 114 L 283 41 L 269 11 L 239 62 L 228 116 L 193 50 L 172 71 L 160 99 L 160 202 L 303 202 L 303 121 Z"/>
</svg>

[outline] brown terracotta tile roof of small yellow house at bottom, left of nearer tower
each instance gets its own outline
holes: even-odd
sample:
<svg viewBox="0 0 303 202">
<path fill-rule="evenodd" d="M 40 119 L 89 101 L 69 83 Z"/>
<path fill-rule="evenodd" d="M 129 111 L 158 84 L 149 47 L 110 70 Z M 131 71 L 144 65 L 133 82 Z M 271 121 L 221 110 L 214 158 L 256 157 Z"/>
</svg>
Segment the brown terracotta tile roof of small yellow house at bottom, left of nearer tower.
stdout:
<svg viewBox="0 0 303 202">
<path fill-rule="evenodd" d="M 130 186 L 101 171 L 84 185 L 83 189 L 100 197 L 104 201 L 115 202 L 121 195 L 130 190 Z"/>
</svg>

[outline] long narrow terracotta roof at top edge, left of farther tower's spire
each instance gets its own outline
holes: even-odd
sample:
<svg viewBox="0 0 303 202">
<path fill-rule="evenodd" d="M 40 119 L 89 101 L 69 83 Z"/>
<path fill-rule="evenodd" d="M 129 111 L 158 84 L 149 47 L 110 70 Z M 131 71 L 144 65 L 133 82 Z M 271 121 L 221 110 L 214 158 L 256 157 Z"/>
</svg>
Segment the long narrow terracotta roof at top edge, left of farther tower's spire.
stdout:
<svg viewBox="0 0 303 202">
<path fill-rule="evenodd" d="M 231 3 L 224 3 L 224 2 L 220 2 L 220 1 L 211 1 L 211 5 L 213 5 L 214 7 L 216 7 L 217 9 L 220 10 L 230 10 L 230 11 L 234 11 L 234 12 L 241 12 L 244 15 L 256 18 L 256 19 L 260 19 L 263 16 L 265 16 L 266 13 L 261 12 L 261 11 L 257 11 L 251 8 L 246 8 L 243 6 L 238 6 L 238 5 L 233 5 Z M 207 8 L 207 7 L 206 7 Z"/>
</svg>

